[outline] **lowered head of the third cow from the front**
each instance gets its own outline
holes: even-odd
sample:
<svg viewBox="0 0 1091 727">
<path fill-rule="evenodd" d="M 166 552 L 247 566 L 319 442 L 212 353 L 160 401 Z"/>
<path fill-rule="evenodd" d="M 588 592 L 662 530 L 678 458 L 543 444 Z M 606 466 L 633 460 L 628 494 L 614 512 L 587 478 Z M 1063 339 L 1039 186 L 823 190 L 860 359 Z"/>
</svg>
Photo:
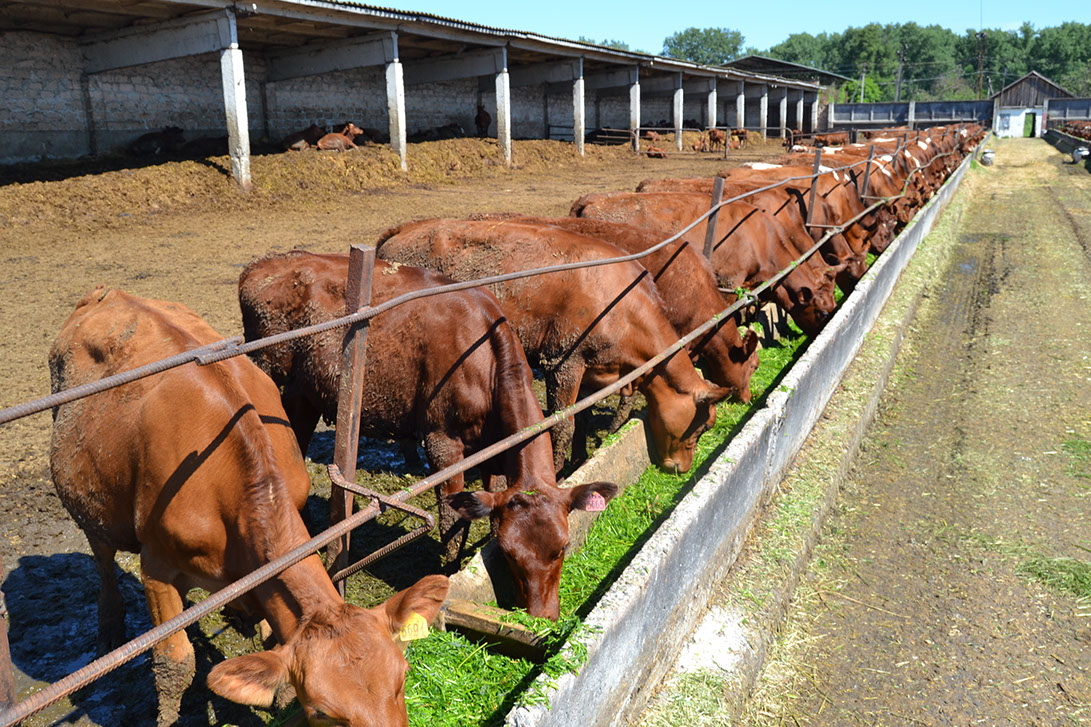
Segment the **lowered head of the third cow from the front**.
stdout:
<svg viewBox="0 0 1091 727">
<path fill-rule="evenodd" d="M 656 376 L 644 391 L 648 400 L 648 430 L 660 468 L 690 472 L 697 439 L 716 424 L 716 405 L 730 396 L 732 390 L 702 381 L 692 392 L 675 391 L 662 376 Z"/>
</svg>

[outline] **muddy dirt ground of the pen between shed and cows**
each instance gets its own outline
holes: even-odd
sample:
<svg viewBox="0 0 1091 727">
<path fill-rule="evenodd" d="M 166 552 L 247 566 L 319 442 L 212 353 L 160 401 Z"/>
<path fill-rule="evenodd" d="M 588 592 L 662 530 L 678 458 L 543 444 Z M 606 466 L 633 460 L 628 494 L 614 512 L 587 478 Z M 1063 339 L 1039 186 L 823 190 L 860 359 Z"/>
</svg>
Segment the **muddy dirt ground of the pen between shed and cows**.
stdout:
<svg viewBox="0 0 1091 727">
<path fill-rule="evenodd" d="M 732 163 L 780 151 L 770 142 L 733 154 Z M 225 176 L 223 157 L 142 168 L 115 168 L 124 167 L 118 159 L 100 167 L 58 163 L 0 175 L 0 406 L 49 393 L 52 338 L 75 301 L 98 284 L 181 301 L 230 336 L 241 333 L 239 271 L 267 252 L 346 251 L 421 217 L 566 215 L 582 194 L 632 189 L 648 177 L 710 176 L 724 166 L 708 154 L 648 159 L 601 146 L 588 146 L 580 159 L 560 142 L 516 142 L 513 170 L 484 140 L 411 145 L 407 175 L 392 166 L 392 156 L 368 147 L 254 157 L 249 195 Z M 27 181 L 35 175 L 40 181 Z M 86 664 L 94 652 L 97 577 L 86 541 L 49 480 L 49 431 L 48 414 L 0 427 L 3 595 L 23 693 Z M 316 445 L 328 439 L 320 436 Z M 147 628 L 143 597 L 131 575 L 122 583 L 135 635 Z M 199 644 L 199 675 L 209 648 Z M 29 724 L 118 724 L 119 698 L 143 703 L 147 714 L 147 671 L 137 663 L 113 678 L 127 684 L 124 694 L 88 690 L 65 705 L 67 717 L 55 710 Z"/>
</svg>

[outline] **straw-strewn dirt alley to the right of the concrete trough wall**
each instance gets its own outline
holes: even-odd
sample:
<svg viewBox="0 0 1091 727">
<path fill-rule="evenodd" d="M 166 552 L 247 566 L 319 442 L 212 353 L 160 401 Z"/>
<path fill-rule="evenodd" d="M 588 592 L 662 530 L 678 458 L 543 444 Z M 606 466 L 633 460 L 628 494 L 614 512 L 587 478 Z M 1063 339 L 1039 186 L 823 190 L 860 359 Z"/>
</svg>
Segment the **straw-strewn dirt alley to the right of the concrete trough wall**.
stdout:
<svg viewBox="0 0 1091 727">
<path fill-rule="evenodd" d="M 743 724 L 1091 723 L 1091 176 L 994 148 Z"/>
</svg>

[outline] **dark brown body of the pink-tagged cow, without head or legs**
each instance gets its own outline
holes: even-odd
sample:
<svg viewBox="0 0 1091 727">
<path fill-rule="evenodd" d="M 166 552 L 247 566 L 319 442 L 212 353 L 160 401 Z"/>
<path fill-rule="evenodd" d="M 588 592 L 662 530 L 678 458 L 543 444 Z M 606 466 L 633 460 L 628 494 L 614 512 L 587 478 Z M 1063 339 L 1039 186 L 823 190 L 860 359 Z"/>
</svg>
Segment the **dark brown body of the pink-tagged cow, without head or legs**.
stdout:
<svg viewBox="0 0 1091 727">
<path fill-rule="evenodd" d="M 251 262 L 239 277 L 247 339 L 344 315 L 347 277 L 345 254 L 293 251 Z M 451 282 L 431 271 L 380 260 L 372 305 Z M 300 386 L 333 420 L 344 332 L 334 329 L 252 356 L 277 384 Z M 516 380 L 505 382 L 508 377 Z M 425 422 L 469 426 L 461 434 L 472 446 L 484 436 L 480 421 L 496 390 L 529 388 L 529 377 L 518 342 L 488 291 L 412 300 L 371 319 L 361 426 L 375 436 L 412 438 Z M 469 425 L 475 420 L 478 424 Z"/>
</svg>

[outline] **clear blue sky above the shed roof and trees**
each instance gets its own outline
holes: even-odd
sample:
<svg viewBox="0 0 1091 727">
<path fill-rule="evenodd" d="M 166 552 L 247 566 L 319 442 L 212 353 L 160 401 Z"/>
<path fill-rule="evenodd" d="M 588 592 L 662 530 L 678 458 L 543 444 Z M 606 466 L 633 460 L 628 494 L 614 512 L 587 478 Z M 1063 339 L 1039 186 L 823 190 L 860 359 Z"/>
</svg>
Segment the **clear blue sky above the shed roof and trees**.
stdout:
<svg viewBox="0 0 1091 727">
<path fill-rule="evenodd" d="M 374 2 L 374 0 L 371 0 Z M 384 3 L 381 3 L 384 4 Z M 635 50 L 659 52 L 663 38 L 687 27 L 732 27 L 746 36 L 746 45 L 766 49 L 792 33 L 837 33 L 850 25 L 867 23 L 938 24 L 956 33 L 978 27 L 983 11 L 985 27 L 1018 28 L 1023 21 L 1035 27 L 1065 21 L 1091 21 L 1088 0 L 979 0 L 979 2 L 891 2 L 889 0 L 841 0 L 840 2 L 679 3 L 597 2 L 552 0 L 475 0 L 437 2 L 405 0 L 389 3 L 399 10 L 415 10 L 494 27 L 531 31 L 542 35 L 601 40 L 624 40 Z M 721 8 L 720 12 L 710 8 Z M 1083 10 L 1079 10 L 1082 7 Z"/>
</svg>

